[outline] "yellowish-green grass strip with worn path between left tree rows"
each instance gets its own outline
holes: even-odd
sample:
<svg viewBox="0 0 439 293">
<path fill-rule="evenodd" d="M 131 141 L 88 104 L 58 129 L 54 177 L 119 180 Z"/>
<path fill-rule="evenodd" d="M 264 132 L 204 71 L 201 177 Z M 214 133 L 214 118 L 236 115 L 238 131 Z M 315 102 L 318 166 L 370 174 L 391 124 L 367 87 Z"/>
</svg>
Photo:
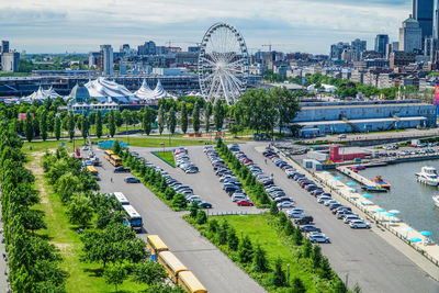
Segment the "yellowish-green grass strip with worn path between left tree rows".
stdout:
<svg viewBox="0 0 439 293">
<path fill-rule="evenodd" d="M 59 143 L 58 143 L 59 144 Z M 63 257 L 61 268 L 69 273 L 66 282 L 67 292 L 113 292 L 114 286 L 108 285 L 100 273 L 102 266 L 81 262 L 82 243 L 77 233 L 77 226 L 71 225 L 66 215 L 66 206 L 59 195 L 53 192 L 52 187 L 44 178 L 41 159 L 44 153 L 32 153 L 27 168 L 35 176 L 35 189 L 40 192 L 41 203 L 36 209 L 45 213 L 47 228 L 38 234 L 49 238 Z M 144 286 L 125 281 L 120 292 L 138 292 Z"/>
</svg>

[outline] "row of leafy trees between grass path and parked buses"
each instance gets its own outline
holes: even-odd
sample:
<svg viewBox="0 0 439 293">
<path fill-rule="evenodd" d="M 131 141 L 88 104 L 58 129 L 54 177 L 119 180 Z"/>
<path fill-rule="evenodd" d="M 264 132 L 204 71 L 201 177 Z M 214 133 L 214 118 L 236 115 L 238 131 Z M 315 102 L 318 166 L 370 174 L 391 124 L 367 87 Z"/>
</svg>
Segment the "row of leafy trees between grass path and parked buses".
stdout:
<svg viewBox="0 0 439 293">
<path fill-rule="evenodd" d="M 66 205 L 71 224 L 83 229 L 82 260 L 101 263 L 106 283 L 114 284 L 117 291 L 117 286 L 130 279 L 146 284 L 145 292 L 183 292 L 166 284 L 165 269 L 147 258 L 145 241 L 124 224 L 126 215 L 121 203 L 114 195 L 94 192 L 99 185 L 81 167 L 80 160 L 59 148 L 44 156 L 43 167 Z M 91 225 L 92 218 L 95 222 Z"/>
</svg>

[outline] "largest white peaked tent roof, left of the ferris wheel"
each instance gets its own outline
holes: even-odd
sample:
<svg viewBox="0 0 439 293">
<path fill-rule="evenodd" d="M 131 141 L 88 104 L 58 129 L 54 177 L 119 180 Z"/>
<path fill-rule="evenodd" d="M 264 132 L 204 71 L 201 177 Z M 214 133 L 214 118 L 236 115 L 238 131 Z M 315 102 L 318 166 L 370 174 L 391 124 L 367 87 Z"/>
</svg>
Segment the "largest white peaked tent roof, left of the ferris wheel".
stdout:
<svg viewBox="0 0 439 293">
<path fill-rule="evenodd" d="M 138 100 L 124 86 L 108 80 L 103 77 L 100 77 L 93 81 L 89 81 L 85 86 L 89 90 L 90 97 L 93 97 L 100 101 L 106 101 L 110 98 L 112 101 L 130 103 L 133 100 Z"/>
</svg>

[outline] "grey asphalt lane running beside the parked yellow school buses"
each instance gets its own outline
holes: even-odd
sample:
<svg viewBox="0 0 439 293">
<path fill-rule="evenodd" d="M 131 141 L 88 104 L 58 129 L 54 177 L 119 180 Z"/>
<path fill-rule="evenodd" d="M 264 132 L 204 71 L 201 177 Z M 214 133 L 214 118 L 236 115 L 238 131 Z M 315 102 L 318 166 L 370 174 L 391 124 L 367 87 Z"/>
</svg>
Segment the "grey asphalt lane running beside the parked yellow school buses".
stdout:
<svg viewBox="0 0 439 293">
<path fill-rule="evenodd" d="M 99 167 L 101 192 L 123 192 L 144 219 L 144 230 L 138 236 L 146 239 L 147 233 L 158 234 L 170 250 L 204 284 L 209 292 L 266 292 L 232 260 L 200 236 L 182 219 L 182 213 L 171 211 L 143 184 L 127 184 L 124 173 L 113 173 L 113 167 L 103 159 L 103 153 L 95 151 L 102 160 Z M 204 156 L 204 153 L 201 153 Z M 207 173 L 207 172 L 205 172 Z M 114 182 L 111 182 L 113 178 Z M 210 184 L 209 181 L 204 181 Z M 189 182 L 188 182 L 189 183 Z M 227 196 L 225 193 L 223 196 Z"/>
</svg>

